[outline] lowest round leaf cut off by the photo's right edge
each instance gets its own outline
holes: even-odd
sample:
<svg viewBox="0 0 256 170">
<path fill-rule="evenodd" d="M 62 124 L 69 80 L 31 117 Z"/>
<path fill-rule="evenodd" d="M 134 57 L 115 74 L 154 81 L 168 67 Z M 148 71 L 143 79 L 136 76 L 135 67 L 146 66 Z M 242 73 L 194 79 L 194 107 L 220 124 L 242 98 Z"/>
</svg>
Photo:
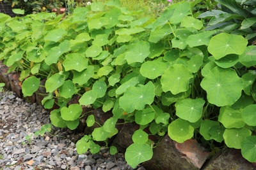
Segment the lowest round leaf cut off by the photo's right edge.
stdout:
<svg viewBox="0 0 256 170">
<path fill-rule="evenodd" d="M 244 138 L 241 144 L 241 153 L 246 160 L 256 162 L 256 136 Z"/>
</svg>

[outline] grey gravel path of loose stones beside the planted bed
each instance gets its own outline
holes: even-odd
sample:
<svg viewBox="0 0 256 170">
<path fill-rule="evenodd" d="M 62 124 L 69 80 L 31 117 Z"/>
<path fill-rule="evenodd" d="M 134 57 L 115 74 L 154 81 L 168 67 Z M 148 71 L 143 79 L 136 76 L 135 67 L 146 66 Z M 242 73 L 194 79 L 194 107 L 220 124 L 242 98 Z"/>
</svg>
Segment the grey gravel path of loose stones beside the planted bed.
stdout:
<svg viewBox="0 0 256 170">
<path fill-rule="evenodd" d="M 81 135 L 74 131 L 52 127 L 50 134 L 35 136 L 49 120 L 42 106 L 26 103 L 13 92 L 0 92 L 0 170 L 132 169 L 125 162 L 124 154 L 110 155 L 106 148 L 95 155 L 90 152 L 78 155 L 75 143 Z"/>
</svg>

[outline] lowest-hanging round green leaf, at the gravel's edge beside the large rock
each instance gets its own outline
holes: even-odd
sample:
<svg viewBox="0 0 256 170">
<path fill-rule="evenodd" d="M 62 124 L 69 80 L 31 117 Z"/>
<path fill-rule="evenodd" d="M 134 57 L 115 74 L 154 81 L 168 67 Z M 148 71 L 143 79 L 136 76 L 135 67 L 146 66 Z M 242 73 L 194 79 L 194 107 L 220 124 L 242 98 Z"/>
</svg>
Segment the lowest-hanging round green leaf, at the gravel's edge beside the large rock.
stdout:
<svg viewBox="0 0 256 170">
<path fill-rule="evenodd" d="M 125 160 L 132 168 L 135 168 L 142 162 L 150 160 L 152 156 L 152 148 L 145 143 L 133 143 L 125 152 Z"/>
</svg>

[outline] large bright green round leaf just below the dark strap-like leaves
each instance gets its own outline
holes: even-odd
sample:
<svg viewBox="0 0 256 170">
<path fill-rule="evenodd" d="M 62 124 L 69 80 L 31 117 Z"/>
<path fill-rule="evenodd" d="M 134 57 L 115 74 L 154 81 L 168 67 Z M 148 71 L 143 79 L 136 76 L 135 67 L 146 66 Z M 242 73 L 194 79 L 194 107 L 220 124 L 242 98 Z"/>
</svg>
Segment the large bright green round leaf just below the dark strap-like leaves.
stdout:
<svg viewBox="0 0 256 170">
<path fill-rule="evenodd" d="M 241 55 L 247 43 L 243 36 L 222 32 L 211 38 L 208 50 L 218 60 L 231 53 Z"/>
</svg>

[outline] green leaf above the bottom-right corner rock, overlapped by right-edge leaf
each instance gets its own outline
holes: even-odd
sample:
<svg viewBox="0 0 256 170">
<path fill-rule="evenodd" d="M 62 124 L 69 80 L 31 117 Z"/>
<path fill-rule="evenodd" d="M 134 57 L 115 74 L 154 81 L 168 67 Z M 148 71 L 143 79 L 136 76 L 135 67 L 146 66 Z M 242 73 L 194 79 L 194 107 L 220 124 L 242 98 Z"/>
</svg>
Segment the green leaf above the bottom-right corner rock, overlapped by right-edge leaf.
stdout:
<svg viewBox="0 0 256 170">
<path fill-rule="evenodd" d="M 252 132 L 243 127 L 241 129 L 225 129 L 223 138 L 228 148 L 241 149 L 241 143 L 246 136 L 251 136 Z"/>
</svg>

